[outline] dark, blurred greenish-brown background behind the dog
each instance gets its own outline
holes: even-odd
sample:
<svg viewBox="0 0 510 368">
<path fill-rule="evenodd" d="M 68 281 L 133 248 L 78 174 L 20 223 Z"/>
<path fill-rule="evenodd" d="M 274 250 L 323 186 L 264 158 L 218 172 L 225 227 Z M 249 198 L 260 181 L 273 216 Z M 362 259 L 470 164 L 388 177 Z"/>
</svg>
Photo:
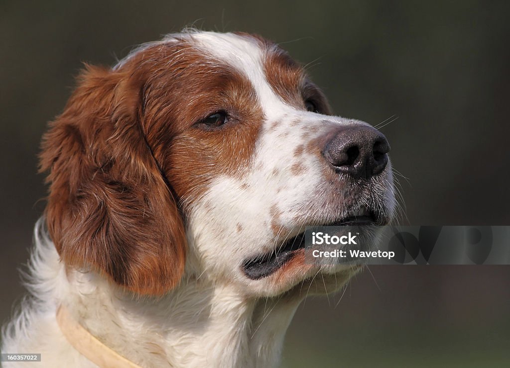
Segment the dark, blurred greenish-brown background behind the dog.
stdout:
<svg viewBox="0 0 510 368">
<path fill-rule="evenodd" d="M 68 1 L 0 3 L 0 320 L 44 209 L 36 175 L 46 122 L 83 61 L 194 24 L 279 42 L 336 114 L 392 145 L 410 224 L 510 225 L 509 2 Z M 379 266 L 341 295 L 307 300 L 287 366 L 508 366 L 510 266 Z"/>
</svg>

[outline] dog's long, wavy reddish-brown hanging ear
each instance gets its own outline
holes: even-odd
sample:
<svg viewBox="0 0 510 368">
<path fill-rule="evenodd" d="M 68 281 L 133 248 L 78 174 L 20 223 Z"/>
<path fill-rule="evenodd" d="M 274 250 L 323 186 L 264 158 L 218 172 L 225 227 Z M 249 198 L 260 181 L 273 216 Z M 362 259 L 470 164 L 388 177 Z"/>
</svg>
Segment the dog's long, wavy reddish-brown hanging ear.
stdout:
<svg viewBox="0 0 510 368">
<path fill-rule="evenodd" d="M 44 135 L 46 221 L 66 265 L 103 272 L 139 294 L 181 279 L 183 219 L 141 124 L 133 74 L 86 67 Z"/>
</svg>

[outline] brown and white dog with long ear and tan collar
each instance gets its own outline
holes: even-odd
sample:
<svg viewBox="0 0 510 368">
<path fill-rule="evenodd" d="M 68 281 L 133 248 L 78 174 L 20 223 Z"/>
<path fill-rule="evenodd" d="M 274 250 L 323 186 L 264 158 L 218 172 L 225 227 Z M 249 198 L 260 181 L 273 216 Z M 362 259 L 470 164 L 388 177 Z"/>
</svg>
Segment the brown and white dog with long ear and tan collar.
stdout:
<svg viewBox="0 0 510 368">
<path fill-rule="evenodd" d="M 308 291 L 360 269 L 307 264 L 294 240 L 390 221 L 388 150 L 258 36 L 188 31 L 87 66 L 43 139 L 32 296 L 2 352 L 50 367 L 277 365 Z"/>
</svg>

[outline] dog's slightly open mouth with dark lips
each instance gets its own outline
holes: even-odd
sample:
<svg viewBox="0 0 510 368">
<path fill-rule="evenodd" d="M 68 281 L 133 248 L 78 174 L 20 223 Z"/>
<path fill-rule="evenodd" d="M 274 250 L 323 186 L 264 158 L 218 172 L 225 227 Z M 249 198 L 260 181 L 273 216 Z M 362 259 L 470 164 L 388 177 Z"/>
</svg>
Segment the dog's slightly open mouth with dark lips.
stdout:
<svg viewBox="0 0 510 368">
<path fill-rule="evenodd" d="M 356 214 L 345 217 L 339 221 L 324 224 L 314 224 L 320 226 L 356 226 L 356 225 L 373 225 L 379 224 L 380 216 L 375 212 L 363 208 Z M 252 280 L 271 275 L 278 269 L 282 268 L 289 262 L 298 252 L 304 248 L 304 228 L 298 235 L 287 239 L 279 248 L 265 254 L 261 254 L 255 258 L 249 258 L 244 261 L 243 272 Z"/>
</svg>

